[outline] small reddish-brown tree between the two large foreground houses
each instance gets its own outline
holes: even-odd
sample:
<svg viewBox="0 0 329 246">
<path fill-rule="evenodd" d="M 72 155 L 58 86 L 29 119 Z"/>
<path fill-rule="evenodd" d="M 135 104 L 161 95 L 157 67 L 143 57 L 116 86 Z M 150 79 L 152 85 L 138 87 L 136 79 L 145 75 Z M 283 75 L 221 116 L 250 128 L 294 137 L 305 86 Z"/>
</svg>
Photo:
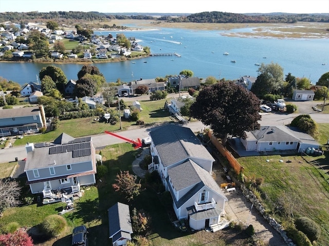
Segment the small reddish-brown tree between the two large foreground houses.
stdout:
<svg viewBox="0 0 329 246">
<path fill-rule="evenodd" d="M 137 176 L 132 175 L 129 171 L 121 171 L 117 174 L 116 183 L 112 185 L 115 191 L 123 194 L 127 201 L 131 201 L 139 195 L 141 187 L 140 183 L 137 183 Z"/>
</svg>

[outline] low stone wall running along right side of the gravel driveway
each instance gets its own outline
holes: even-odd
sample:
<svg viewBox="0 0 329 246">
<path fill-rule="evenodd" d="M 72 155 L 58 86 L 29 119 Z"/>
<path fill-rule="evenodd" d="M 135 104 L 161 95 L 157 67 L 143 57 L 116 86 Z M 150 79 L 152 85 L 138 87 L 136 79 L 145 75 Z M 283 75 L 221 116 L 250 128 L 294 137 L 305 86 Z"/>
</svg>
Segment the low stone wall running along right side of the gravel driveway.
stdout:
<svg viewBox="0 0 329 246">
<path fill-rule="evenodd" d="M 261 215 L 263 215 L 264 219 L 267 220 L 270 226 L 273 227 L 282 236 L 287 245 L 296 246 L 293 240 L 288 238 L 287 233 L 284 231 L 284 228 L 281 226 L 281 224 L 265 212 L 265 208 L 262 206 L 261 202 L 251 191 L 246 188 L 244 184 L 241 185 L 241 190 L 243 195 L 253 204 L 253 207 L 255 207 L 261 213 Z"/>
</svg>

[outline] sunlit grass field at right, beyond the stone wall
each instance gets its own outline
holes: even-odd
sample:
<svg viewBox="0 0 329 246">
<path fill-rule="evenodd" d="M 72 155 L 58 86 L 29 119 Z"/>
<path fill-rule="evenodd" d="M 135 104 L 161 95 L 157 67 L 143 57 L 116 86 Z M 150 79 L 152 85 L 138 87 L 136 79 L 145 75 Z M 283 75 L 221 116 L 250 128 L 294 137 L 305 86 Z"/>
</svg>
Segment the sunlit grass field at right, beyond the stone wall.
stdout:
<svg viewBox="0 0 329 246">
<path fill-rule="evenodd" d="M 326 162 L 329 156 L 308 157 Z M 319 245 L 329 245 L 329 175 L 310 165 L 301 156 L 252 156 L 237 159 L 244 167 L 247 177 L 263 177 L 261 185 L 266 209 L 273 213 L 283 226 L 290 222 L 281 216 L 273 204 L 282 195 L 298 204 L 294 216 L 306 216 L 315 220 L 322 228 Z M 282 160 L 282 162 L 280 161 Z M 322 175 L 320 174 L 322 172 Z M 266 197 L 266 198 L 264 198 Z"/>
</svg>

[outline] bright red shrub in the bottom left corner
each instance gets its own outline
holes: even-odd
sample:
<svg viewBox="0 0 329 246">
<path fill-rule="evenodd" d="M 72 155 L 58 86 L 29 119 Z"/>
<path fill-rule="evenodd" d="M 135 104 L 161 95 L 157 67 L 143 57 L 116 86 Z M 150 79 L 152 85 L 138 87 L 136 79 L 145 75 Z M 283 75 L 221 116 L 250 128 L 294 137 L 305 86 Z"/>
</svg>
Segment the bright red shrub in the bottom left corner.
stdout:
<svg viewBox="0 0 329 246">
<path fill-rule="evenodd" d="M 22 229 L 8 234 L 0 235 L 2 246 L 33 246 L 32 238 Z"/>
</svg>

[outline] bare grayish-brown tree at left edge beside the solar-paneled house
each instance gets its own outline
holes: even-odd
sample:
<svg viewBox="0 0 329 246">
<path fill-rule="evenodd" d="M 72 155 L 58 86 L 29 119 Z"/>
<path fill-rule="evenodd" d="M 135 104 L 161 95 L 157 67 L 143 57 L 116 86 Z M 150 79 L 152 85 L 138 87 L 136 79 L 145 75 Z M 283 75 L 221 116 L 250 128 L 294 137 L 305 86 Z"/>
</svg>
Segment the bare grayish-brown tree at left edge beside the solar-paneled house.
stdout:
<svg viewBox="0 0 329 246">
<path fill-rule="evenodd" d="M 7 208 L 18 206 L 21 203 L 20 195 L 21 187 L 18 182 L 9 179 L 0 180 L 0 214 Z"/>
</svg>

